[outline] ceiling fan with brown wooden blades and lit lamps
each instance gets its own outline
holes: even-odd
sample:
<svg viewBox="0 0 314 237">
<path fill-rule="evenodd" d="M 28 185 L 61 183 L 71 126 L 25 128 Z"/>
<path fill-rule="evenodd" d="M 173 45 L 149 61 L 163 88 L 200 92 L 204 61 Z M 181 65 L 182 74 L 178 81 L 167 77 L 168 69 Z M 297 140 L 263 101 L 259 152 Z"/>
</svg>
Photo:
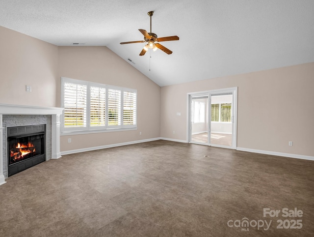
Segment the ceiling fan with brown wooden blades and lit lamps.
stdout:
<svg viewBox="0 0 314 237">
<path fill-rule="evenodd" d="M 156 51 L 157 49 L 161 49 L 166 54 L 172 54 L 171 50 L 162 46 L 158 42 L 179 40 L 179 37 L 175 35 L 175 36 L 167 36 L 167 37 L 158 38 L 157 34 L 152 32 L 152 16 L 154 14 L 154 11 L 150 11 L 147 14 L 151 18 L 151 32 L 148 33 L 146 30 L 138 29 L 144 35 L 144 40 L 121 42 L 120 44 L 132 44 L 132 43 L 145 43 L 146 42 L 147 44 L 144 46 L 139 56 L 143 56 L 147 52 L 148 49 L 153 49 L 153 51 Z"/>
</svg>

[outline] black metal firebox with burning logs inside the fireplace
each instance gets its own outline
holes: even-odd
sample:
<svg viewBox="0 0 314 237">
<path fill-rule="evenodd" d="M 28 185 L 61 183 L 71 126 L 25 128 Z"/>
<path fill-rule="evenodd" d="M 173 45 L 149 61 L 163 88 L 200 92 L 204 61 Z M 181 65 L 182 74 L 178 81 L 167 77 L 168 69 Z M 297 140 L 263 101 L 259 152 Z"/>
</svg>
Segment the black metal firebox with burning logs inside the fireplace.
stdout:
<svg viewBox="0 0 314 237">
<path fill-rule="evenodd" d="M 8 127 L 8 176 L 46 160 L 45 130 L 45 124 Z"/>
</svg>

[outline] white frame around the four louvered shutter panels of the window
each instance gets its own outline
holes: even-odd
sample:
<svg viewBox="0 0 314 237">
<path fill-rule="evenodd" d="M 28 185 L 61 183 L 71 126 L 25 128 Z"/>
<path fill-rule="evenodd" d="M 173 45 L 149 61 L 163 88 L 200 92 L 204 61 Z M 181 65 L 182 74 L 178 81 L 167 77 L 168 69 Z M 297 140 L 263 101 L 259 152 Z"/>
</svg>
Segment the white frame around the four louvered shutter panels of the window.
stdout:
<svg viewBox="0 0 314 237">
<path fill-rule="evenodd" d="M 136 130 L 137 129 L 137 89 L 123 88 L 111 85 L 105 85 L 100 83 L 82 81 L 77 79 L 71 79 L 66 77 L 61 77 L 61 107 L 64 108 L 64 85 L 65 83 L 86 85 L 87 94 L 86 94 L 86 126 L 84 127 L 65 127 L 65 115 L 64 111 L 61 116 L 61 135 L 69 134 L 84 134 L 84 133 L 98 133 L 98 132 L 110 132 L 110 131 L 126 131 L 126 130 Z M 105 89 L 105 125 L 100 126 L 91 126 L 91 87 L 98 87 Z M 120 91 L 120 125 L 108 125 L 108 90 L 114 89 Z M 124 101 L 124 92 L 133 92 L 135 93 L 135 124 L 124 125 L 124 116 L 123 116 L 123 101 Z M 133 110 L 134 111 L 134 110 Z"/>
</svg>

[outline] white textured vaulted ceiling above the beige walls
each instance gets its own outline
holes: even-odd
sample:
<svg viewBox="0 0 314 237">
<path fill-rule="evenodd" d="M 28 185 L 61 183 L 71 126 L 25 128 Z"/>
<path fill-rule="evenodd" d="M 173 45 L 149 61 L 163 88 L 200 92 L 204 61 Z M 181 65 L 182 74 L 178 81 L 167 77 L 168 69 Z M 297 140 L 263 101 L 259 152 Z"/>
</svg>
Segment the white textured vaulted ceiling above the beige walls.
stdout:
<svg viewBox="0 0 314 237">
<path fill-rule="evenodd" d="M 119 44 L 143 39 L 151 10 L 158 37 L 180 37 L 161 43 L 172 55 Z M 0 0 L 0 26 L 58 46 L 107 46 L 159 86 L 314 61 L 314 0 Z"/>
</svg>

